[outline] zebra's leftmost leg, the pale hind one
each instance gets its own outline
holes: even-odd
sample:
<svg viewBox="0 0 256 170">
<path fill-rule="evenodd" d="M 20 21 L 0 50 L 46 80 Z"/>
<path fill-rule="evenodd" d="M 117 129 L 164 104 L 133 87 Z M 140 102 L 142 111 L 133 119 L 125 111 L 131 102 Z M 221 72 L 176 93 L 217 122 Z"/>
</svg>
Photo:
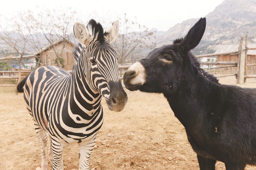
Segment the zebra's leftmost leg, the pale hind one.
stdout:
<svg viewBox="0 0 256 170">
<path fill-rule="evenodd" d="M 41 151 L 42 151 L 42 163 L 41 163 L 41 168 L 42 170 L 47 170 L 48 167 L 48 162 L 47 162 L 47 133 L 44 131 L 43 128 L 41 128 L 38 124 L 35 123 L 35 129 L 36 129 L 36 134 L 38 135 L 39 143 L 41 146 Z"/>
</svg>

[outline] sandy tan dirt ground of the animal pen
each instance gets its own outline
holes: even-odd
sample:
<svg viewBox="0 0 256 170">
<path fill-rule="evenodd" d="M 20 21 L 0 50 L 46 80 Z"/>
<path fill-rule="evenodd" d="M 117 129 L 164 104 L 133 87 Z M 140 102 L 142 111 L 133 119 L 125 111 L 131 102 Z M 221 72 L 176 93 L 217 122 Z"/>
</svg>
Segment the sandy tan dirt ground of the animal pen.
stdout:
<svg viewBox="0 0 256 170">
<path fill-rule="evenodd" d="M 234 76 L 219 79 L 222 84 L 236 85 Z M 256 79 L 239 86 L 256 88 Z M 15 95 L 13 89 L 0 87 L 0 169 L 36 169 L 41 165 L 41 149 L 34 124 L 23 93 Z M 198 170 L 185 129 L 163 95 L 125 91 L 128 103 L 122 112 L 108 110 L 102 100 L 104 123 L 92 152 L 92 170 Z M 65 148 L 65 169 L 78 169 L 78 151 L 77 144 Z M 48 169 L 52 169 L 50 164 Z M 222 169 L 225 165 L 217 162 L 216 170 Z M 256 167 L 246 166 L 246 170 Z"/>
</svg>

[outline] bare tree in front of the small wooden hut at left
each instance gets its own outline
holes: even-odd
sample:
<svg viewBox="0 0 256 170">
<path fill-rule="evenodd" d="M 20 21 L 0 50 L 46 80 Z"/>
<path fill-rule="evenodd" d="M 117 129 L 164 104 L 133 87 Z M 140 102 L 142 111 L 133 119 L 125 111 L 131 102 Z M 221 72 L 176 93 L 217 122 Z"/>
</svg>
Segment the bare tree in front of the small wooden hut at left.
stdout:
<svg viewBox="0 0 256 170">
<path fill-rule="evenodd" d="M 61 55 L 64 49 L 74 39 L 72 29 L 76 20 L 75 16 L 76 11 L 72 11 L 70 8 L 64 11 L 44 10 L 37 15 L 30 14 L 31 21 L 34 24 L 34 33 L 37 35 L 40 32 L 43 33 L 44 38 L 48 41 L 48 44 L 52 47 L 56 55 L 56 63 L 59 67 L 62 65 Z M 61 48 L 56 47 L 57 41 L 62 41 Z"/>
</svg>

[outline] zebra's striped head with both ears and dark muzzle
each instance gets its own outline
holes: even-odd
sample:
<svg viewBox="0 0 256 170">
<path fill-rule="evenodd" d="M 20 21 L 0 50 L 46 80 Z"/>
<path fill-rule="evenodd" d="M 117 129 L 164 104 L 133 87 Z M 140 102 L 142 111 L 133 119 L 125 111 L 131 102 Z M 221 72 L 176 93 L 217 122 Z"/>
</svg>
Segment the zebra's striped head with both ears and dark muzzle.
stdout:
<svg viewBox="0 0 256 170">
<path fill-rule="evenodd" d="M 78 22 L 74 25 L 76 39 L 82 44 L 81 53 L 75 54 L 78 56 L 75 68 L 91 90 L 106 99 L 110 110 L 120 112 L 128 98 L 119 79 L 117 53 L 110 44 L 116 39 L 118 29 L 118 20 L 106 32 L 93 19 L 86 27 Z"/>
</svg>

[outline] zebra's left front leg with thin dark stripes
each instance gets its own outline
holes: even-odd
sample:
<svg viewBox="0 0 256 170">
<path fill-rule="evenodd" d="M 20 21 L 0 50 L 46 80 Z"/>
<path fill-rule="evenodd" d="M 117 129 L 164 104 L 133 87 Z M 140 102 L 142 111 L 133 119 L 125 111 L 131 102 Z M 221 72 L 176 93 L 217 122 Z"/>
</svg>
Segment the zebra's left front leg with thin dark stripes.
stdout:
<svg viewBox="0 0 256 170">
<path fill-rule="evenodd" d="M 53 170 L 63 170 L 63 145 L 59 142 L 58 139 L 52 138 L 52 155 L 53 155 Z"/>
</svg>

